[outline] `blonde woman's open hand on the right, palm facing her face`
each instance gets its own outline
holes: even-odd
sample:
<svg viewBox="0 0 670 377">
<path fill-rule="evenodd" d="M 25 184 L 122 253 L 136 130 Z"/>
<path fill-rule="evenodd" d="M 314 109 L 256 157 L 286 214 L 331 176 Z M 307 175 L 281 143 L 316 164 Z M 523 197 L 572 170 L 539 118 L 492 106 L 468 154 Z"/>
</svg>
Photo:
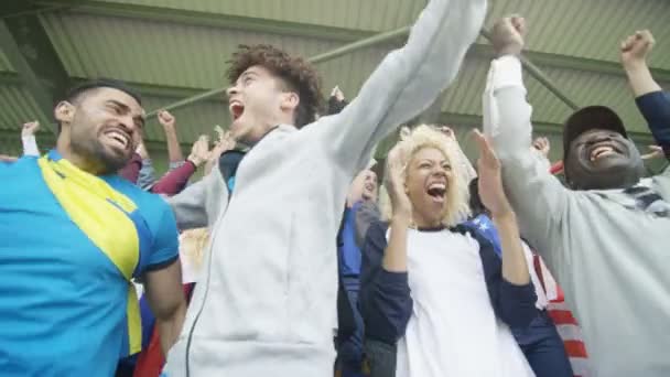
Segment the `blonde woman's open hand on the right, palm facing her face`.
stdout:
<svg viewBox="0 0 670 377">
<path fill-rule="evenodd" d="M 477 168 L 482 204 L 494 217 L 511 214 L 511 205 L 502 188 L 500 160 L 490 147 L 488 139 L 479 130 L 475 130 L 475 139 L 479 147 Z"/>
</svg>

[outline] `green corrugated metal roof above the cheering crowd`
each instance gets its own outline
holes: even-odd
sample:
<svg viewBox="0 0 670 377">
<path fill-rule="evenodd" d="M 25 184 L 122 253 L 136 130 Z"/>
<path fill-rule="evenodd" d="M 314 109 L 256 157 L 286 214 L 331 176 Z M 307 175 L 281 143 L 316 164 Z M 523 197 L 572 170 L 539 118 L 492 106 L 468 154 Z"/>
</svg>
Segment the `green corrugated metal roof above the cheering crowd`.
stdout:
<svg viewBox="0 0 670 377">
<path fill-rule="evenodd" d="M 344 44 L 411 24 L 425 0 L 39 0 L 24 12 L 37 14 L 47 42 L 72 80 L 110 77 L 128 82 L 153 110 L 226 85 L 225 62 L 240 43 L 270 43 L 309 57 Z M 650 140 L 618 63 L 618 43 L 637 29 L 650 29 L 657 45 L 650 60 L 655 77 L 670 85 L 670 1 L 666 0 L 495 0 L 486 26 L 508 13 L 529 23 L 526 57 L 580 106 L 616 109 L 635 137 Z M 42 9 L 39 13 L 30 13 Z M 18 14 L 18 15 L 17 15 Z M 14 17 L 22 17 L 20 13 Z M 366 47 L 317 64 L 324 90 L 339 85 L 355 96 L 379 61 L 402 40 Z M 15 50 L 0 46 L 0 132 L 50 111 L 22 85 Z M 440 119 L 467 127 L 480 122 L 482 91 L 490 47 L 479 39 L 443 98 Z M 50 64 L 51 62 L 44 62 Z M 20 69 L 19 69 L 20 71 Z M 558 133 L 571 108 L 527 76 L 533 121 L 543 133 Z M 34 83 L 33 83 L 34 84 Z M 34 85 L 33 85 L 34 87 Z M 227 106 L 209 98 L 173 111 L 180 138 L 192 142 L 227 126 Z M 465 127 L 467 126 L 467 127 Z M 0 136 L 0 139 L 2 137 Z M 151 120 L 150 146 L 163 134 Z M 556 142 L 559 140 L 556 139 Z M 560 147 L 556 144 L 555 148 Z M 184 151 L 186 152 L 186 150 Z"/>
</svg>

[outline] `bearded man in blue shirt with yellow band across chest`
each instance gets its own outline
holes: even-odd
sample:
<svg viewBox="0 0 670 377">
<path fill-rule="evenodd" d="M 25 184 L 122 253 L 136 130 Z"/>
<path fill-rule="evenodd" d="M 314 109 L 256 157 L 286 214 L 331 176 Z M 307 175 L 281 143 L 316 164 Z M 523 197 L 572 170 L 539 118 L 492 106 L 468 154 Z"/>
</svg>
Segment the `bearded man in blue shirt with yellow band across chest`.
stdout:
<svg viewBox="0 0 670 377">
<path fill-rule="evenodd" d="M 116 173 L 144 123 L 137 95 L 87 83 L 54 114 L 55 150 L 0 162 L 0 370 L 112 376 L 141 342 L 132 279 L 144 283 L 163 352 L 181 331 L 176 225 L 159 196 Z"/>
</svg>

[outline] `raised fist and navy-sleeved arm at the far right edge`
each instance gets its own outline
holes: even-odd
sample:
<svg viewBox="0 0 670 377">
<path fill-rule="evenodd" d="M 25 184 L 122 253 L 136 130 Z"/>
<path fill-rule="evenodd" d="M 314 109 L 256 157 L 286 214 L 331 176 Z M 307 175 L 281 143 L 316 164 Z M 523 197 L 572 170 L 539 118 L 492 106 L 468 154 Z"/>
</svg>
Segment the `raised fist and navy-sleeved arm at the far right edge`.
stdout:
<svg viewBox="0 0 670 377">
<path fill-rule="evenodd" d="M 656 142 L 670 159 L 670 98 L 653 80 L 647 58 L 653 49 L 653 35 L 648 30 L 637 31 L 622 42 L 622 65 L 635 101 L 642 117 L 647 120 L 649 130 Z"/>
</svg>

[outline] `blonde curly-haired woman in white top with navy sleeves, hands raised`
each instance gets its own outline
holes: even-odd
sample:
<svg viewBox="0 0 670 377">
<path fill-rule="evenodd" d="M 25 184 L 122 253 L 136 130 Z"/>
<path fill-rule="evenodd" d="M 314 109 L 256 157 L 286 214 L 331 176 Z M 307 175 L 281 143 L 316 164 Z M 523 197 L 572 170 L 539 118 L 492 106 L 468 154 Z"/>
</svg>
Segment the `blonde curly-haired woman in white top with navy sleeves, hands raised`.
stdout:
<svg viewBox="0 0 670 377">
<path fill-rule="evenodd" d="M 509 326 L 530 323 L 536 293 L 499 163 L 477 139 L 480 196 L 500 233 L 501 259 L 457 225 L 468 203 L 454 141 L 420 126 L 389 153 L 390 208 L 366 236 L 359 303 L 366 338 L 397 344 L 397 367 L 371 349 L 375 377 L 533 376 Z"/>
</svg>

